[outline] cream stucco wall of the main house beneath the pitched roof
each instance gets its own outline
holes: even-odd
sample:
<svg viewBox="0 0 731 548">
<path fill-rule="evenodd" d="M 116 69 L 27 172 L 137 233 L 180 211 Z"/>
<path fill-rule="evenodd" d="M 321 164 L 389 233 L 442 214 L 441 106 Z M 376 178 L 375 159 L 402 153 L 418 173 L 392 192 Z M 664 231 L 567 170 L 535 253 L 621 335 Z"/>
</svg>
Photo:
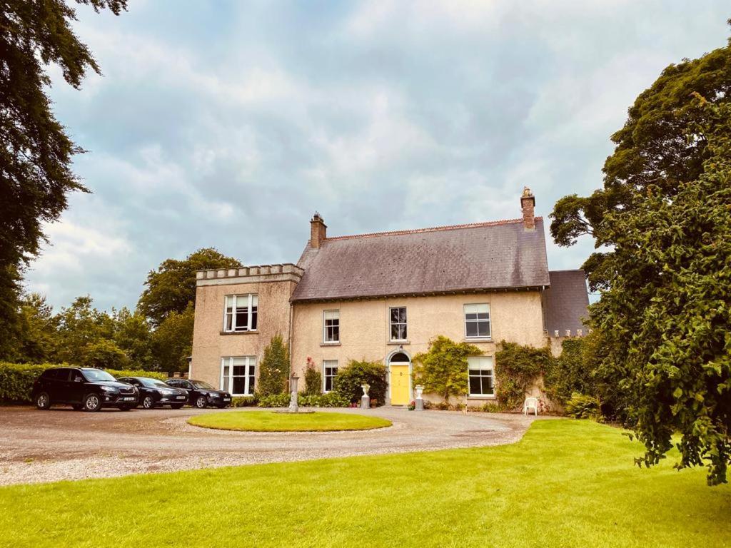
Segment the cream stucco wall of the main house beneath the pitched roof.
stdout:
<svg viewBox="0 0 731 548">
<path fill-rule="evenodd" d="M 349 359 L 386 362 L 399 346 L 389 343 L 388 314 L 389 308 L 395 306 L 406 306 L 408 343 L 403 346 L 409 357 L 426 351 L 429 340 L 436 335 L 466 340 L 463 306 L 485 302 L 490 304 L 491 340 L 470 342 L 486 356 L 494 356 L 500 340 L 545 345 L 541 297 L 537 291 L 295 303 L 292 368 L 303 376 L 308 357 L 314 359 L 318 368 L 322 368 L 325 359 L 337 359 L 338 367 L 344 367 Z M 322 342 L 322 313 L 335 309 L 340 311 L 340 344 L 333 346 Z M 470 401 L 479 403 L 480 399 Z"/>
</svg>

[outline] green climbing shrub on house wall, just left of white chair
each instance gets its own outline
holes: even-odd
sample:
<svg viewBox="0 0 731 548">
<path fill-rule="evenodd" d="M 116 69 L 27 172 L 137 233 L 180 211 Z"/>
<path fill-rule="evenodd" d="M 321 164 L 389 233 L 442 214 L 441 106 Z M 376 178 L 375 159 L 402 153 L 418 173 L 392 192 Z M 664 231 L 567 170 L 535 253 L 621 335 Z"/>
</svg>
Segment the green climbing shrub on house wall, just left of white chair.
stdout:
<svg viewBox="0 0 731 548">
<path fill-rule="evenodd" d="M 498 403 L 507 410 L 522 407 L 526 393 L 548 369 L 552 359 L 548 348 L 537 349 L 502 340 L 495 354 Z"/>
</svg>

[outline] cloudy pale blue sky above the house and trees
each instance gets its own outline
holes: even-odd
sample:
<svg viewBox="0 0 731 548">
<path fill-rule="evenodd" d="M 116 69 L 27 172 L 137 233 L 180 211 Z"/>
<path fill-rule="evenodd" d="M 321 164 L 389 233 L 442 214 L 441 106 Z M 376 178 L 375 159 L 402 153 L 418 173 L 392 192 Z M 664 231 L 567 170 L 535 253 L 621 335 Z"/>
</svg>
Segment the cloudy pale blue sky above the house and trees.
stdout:
<svg viewBox="0 0 731 548">
<path fill-rule="evenodd" d="M 602 186 L 610 135 L 665 66 L 727 43 L 727 1 L 129 0 L 77 7 L 103 75 L 51 67 L 87 153 L 26 275 L 56 310 L 134 308 L 149 270 L 215 247 L 297 262 L 329 235 L 520 217 Z M 553 244 L 577 268 L 589 238 Z"/>
</svg>

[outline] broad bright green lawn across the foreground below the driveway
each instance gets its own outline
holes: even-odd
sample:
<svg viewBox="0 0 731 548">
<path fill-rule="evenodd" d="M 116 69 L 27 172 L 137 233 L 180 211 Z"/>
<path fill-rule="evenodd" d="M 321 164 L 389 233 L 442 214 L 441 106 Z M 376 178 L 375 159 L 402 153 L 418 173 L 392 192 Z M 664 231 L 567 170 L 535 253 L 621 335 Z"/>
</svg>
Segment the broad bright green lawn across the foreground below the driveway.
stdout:
<svg viewBox="0 0 731 548">
<path fill-rule="evenodd" d="M 4 546 L 727 547 L 731 488 L 612 427 L 518 444 L 0 489 Z M 670 459 L 671 461 L 674 459 Z"/>
</svg>

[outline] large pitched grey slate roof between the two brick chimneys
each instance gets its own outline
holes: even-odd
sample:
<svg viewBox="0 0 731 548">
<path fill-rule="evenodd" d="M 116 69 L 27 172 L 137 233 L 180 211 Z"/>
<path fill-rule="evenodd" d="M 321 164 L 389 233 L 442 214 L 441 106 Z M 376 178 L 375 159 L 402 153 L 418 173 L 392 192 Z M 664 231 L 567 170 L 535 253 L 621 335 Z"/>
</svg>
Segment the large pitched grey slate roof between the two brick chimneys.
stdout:
<svg viewBox="0 0 731 548">
<path fill-rule="evenodd" d="M 543 220 L 329 237 L 305 247 L 292 301 L 548 286 Z"/>
</svg>

